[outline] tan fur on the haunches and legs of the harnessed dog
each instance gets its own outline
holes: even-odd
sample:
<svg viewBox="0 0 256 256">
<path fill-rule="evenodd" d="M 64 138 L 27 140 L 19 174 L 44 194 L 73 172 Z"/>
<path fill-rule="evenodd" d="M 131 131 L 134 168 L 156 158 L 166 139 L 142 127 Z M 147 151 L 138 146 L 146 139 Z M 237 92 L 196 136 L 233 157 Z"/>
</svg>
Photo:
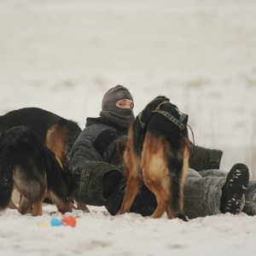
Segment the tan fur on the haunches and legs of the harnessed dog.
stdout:
<svg viewBox="0 0 256 256">
<path fill-rule="evenodd" d="M 123 156 L 124 172 L 127 177 L 127 185 L 125 189 L 125 197 L 118 214 L 129 212 L 132 202 L 134 201 L 142 181 L 150 189 L 157 201 L 157 207 L 150 218 L 160 218 L 164 212 L 167 212 L 168 218 L 176 218 L 177 214 L 183 214 L 183 184 L 186 174 L 189 170 L 189 138 L 183 138 L 185 143 L 179 148 L 177 158 L 183 159 L 183 168 L 180 170 L 181 177 L 179 179 L 178 193 L 178 209 L 174 212 L 171 208 L 170 200 L 172 189 L 172 175 L 168 170 L 167 158 L 168 154 L 172 154 L 172 145 L 166 142 L 163 137 L 154 137 L 150 133 L 146 133 L 143 152 L 141 156 L 135 153 L 133 145 L 132 126 L 128 133 L 127 145 Z M 178 175 L 178 174 L 177 174 Z"/>
</svg>

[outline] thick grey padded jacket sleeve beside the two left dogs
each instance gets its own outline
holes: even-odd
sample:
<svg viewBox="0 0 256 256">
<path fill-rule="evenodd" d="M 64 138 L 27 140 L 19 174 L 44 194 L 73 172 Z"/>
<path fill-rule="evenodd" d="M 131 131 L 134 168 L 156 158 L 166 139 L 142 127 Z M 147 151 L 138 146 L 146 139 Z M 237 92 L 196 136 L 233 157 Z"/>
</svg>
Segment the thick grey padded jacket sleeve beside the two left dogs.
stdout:
<svg viewBox="0 0 256 256">
<path fill-rule="evenodd" d="M 103 177 L 108 172 L 119 171 L 108 164 L 114 148 L 114 131 L 85 128 L 80 134 L 69 157 L 69 171 L 73 177 L 74 200 L 93 206 L 104 206 L 109 199 L 103 193 Z M 105 140 L 97 138 L 104 137 Z"/>
</svg>

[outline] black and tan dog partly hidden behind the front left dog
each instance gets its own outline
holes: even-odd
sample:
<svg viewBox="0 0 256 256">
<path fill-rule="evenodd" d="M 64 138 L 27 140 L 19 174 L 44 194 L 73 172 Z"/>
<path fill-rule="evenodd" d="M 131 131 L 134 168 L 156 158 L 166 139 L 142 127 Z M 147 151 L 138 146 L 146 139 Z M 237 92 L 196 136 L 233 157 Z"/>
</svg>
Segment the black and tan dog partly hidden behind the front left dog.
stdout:
<svg viewBox="0 0 256 256">
<path fill-rule="evenodd" d="M 0 136 L 3 131 L 17 125 L 26 125 L 35 131 L 44 146 L 61 160 L 62 165 L 81 132 L 81 128 L 73 120 L 64 119 L 41 108 L 20 108 L 0 116 Z"/>
</svg>

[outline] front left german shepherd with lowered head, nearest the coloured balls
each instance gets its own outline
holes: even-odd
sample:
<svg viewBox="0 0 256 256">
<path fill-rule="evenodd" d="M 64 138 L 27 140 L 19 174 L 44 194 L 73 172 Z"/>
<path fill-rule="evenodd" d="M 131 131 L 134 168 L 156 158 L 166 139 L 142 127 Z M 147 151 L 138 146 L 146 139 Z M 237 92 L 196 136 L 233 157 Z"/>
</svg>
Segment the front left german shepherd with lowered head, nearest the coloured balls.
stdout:
<svg viewBox="0 0 256 256">
<path fill-rule="evenodd" d="M 16 208 L 14 189 L 22 195 L 18 211 L 42 215 L 46 195 L 59 212 L 71 212 L 68 201 L 69 178 L 55 154 L 44 147 L 38 135 L 27 126 L 15 126 L 0 137 L 0 211 Z"/>
</svg>

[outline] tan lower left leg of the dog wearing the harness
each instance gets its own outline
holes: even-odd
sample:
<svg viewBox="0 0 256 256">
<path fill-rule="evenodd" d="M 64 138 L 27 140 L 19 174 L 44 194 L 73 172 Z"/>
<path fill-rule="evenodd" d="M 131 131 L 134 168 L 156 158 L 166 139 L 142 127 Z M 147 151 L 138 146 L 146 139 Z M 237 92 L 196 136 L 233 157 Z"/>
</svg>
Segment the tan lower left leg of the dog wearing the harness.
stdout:
<svg viewBox="0 0 256 256">
<path fill-rule="evenodd" d="M 123 214 L 125 212 L 129 212 L 131 208 L 131 204 L 133 203 L 138 190 L 140 189 L 140 185 L 143 181 L 143 177 L 136 174 L 132 175 L 131 173 L 128 177 L 126 189 L 125 189 L 125 197 L 122 203 L 122 206 L 119 209 L 119 212 L 117 212 L 116 215 Z"/>
</svg>

